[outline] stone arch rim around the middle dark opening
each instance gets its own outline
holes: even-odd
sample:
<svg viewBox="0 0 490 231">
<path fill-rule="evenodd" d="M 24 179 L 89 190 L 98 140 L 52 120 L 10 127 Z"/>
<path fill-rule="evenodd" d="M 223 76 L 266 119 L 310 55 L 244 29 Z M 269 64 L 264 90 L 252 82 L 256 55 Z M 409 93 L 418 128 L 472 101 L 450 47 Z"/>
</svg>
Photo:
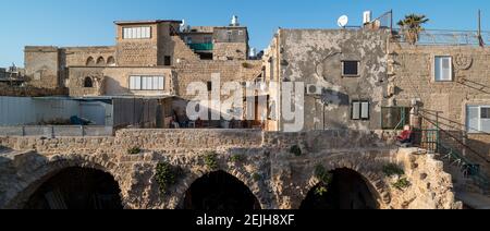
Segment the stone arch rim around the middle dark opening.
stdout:
<svg viewBox="0 0 490 231">
<path fill-rule="evenodd" d="M 198 183 L 200 180 L 209 178 L 211 175 L 215 174 L 224 174 L 231 179 L 235 180 L 235 183 L 240 183 L 242 184 L 243 189 L 248 191 L 249 195 L 253 196 L 253 198 L 255 199 L 255 208 L 254 209 L 264 209 L 264 208 L 268 208 L 270 206 L 267 205 L 265 198 L 261 196 L 261 192 L 260 189 L 252 181 L 252 177 L 247 174 L 243 174 L 242 172 L 240 172 L 238 170 L 231 170 L 231 171 L 225 171 L 225 170 L 216 170 L 216 171 L 209 171 L 209 172 L 200 172 L 198 174 L 194 174 L 191 178 L 185 179 L 180 186 L 177 187 L 175 195 L 180 195 L 180 198 L 177 198 L 177 203 L 175 205 L 175 208 L 186 208 L 185 207 L 185 203 L 186 203 L 186 197 L 187 197 L 187 193 L 193 189 L 193 186 L 196 185 L 196 182 Z M 249 208 L 250 209 L 250 208 Z"/>
</svg>

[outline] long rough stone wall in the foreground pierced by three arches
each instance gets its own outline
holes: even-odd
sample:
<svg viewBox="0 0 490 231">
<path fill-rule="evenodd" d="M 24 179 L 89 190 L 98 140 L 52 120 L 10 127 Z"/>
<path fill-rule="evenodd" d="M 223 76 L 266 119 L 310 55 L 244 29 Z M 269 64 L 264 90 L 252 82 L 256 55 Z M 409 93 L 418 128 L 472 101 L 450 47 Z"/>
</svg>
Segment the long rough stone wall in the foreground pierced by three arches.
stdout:
<svg viewBox="0 0 490 231">
<path fill-rule="evenodd" d="M 290 153 L 292 144 L 302 147 L 302 156 Z M 431 156 L 414 155 L 415 150 L 397 150 L 371 132 L 123 130 L 115 137 L 0 137 L 0 145 L 16 149 L 0 154 L 0 208 L 22 207 L 40 184 L 68 167 L 111 173 L 119 182 L 126 208 L 176 208 L 189 185 L 212 171 L 204 162 L 209 150 L 218 154 L 219 169 L 248 186 L 265 209 L 299 208 L 318 183 L 314 174 L 318 165 L 362 174 L 380 208 L 461 207 L 454 200 L 451 177 L 442 171 L 442 162 Z M 142 154 L 128 155 L 127 148 L 135 145 L 142 147 Z M 232 161 L 234 155 L 244 157 L 243 161 Z M 160 161 L 184 170 L 167 196 L 159 195 L 154 178 Z M 403 167 L 411 186 L 394 189 L 396 179 L 382 173 L 387 163 Z M 254 180 L 257 174 L 261 178 Z"/>
</svg>

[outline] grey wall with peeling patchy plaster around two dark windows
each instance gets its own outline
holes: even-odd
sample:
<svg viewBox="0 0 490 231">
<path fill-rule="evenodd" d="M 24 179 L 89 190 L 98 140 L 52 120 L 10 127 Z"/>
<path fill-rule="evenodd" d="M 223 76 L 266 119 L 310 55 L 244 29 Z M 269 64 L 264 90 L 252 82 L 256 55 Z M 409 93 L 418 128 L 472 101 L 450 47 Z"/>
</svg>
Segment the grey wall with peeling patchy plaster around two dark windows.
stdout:
<svg viewBox="0 0 490 231">
<path fill-rule="evenodd" d="M 280 29 L 273 69 L 282 82 L 322 87 L 305 95 L 305 131 L 380 129 L 387 77 L 388 31 Z M 358 76 L 343 76 L 342 61 L 358 61 Z M 352 102 L 370 102 L 368 120 L 352 120 Z M 283 124 L 291 121 L 281 121 Z"/>
</svg>

